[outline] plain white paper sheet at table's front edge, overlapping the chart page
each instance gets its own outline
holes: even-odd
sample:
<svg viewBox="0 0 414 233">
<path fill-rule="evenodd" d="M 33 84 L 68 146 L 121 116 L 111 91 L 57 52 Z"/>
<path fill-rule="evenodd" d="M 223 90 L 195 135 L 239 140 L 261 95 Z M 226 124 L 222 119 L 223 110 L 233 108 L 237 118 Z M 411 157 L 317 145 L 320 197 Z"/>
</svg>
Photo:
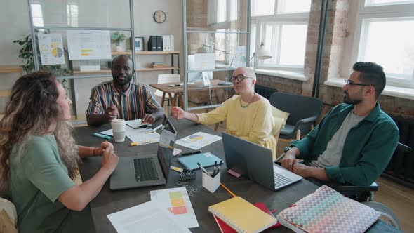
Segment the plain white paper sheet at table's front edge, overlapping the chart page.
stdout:
<svg viewBox="0 0 414 233">
<path fill-rule="evenodd" d="M 107 215 L 116 232 L 190 232 L 154 201 Z"/>
</svg>

